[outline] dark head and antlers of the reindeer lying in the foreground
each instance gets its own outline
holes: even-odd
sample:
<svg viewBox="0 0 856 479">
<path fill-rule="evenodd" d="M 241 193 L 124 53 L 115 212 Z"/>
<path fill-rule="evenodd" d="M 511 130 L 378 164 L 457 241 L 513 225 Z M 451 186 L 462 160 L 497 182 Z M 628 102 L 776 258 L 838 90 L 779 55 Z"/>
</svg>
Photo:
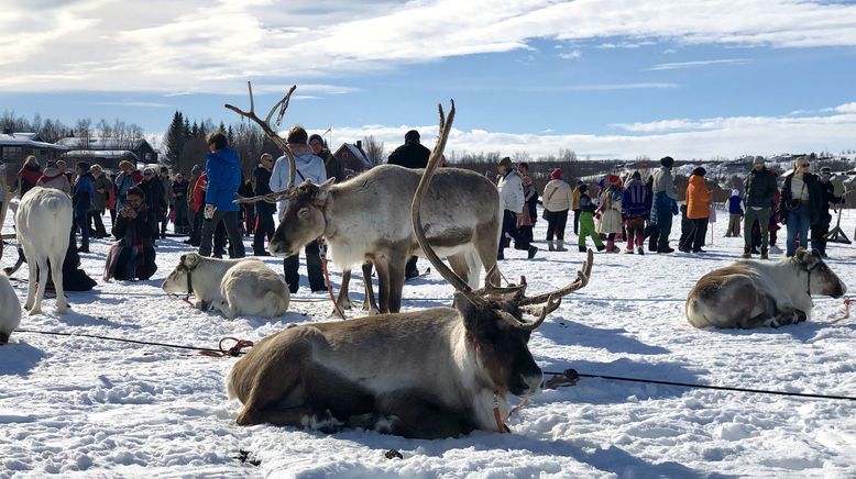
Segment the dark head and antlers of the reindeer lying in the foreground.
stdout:
<svg viewBox="0 0 856 479">
<path fill-rule="evenodd" d="M 542 375 L 529 352 L 529 335 L 544 323 L 550 312 L 559 308 L 564 294 L 589 282 L 594 255 L 590 249 L 588 260 L 578 271 L 575 281 L 557 291 L 533 298 L 526 297 L 526 278 L 520 278 L 518 286 L 512 285 L 507 288 L 486 286 L 472 290 L 467 281 L 446 266 L 425 238 L 420 205 L 442 158 L 453 119 L 454 102 L 448 119 L 440 107 L 440 134 L 410 205 L 414 234 L 431 265 L 457 290 L 454 308 L 467 330 L 468 342 L 474 345 L 478 363 L 491 382 L 490 387 L 515 396 L 534 394 L 540 389 Z M 492 271 L 489 271 L 487 276 L 490 277 Z M 544 305 L 537 308 L 536 304 Z M 523 313 L 534 314 L 537 320 L 531 323 L 524 322 Z"/>
</svg>

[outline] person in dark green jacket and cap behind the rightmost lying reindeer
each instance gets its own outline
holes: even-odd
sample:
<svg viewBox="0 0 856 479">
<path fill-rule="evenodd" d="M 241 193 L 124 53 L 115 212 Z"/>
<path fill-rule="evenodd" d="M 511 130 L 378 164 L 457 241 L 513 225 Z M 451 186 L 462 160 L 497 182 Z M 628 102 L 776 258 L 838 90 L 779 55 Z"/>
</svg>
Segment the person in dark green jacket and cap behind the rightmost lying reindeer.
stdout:
<svg viewBox="0 0 856 479">
<path fill-rule="evenodd" d="M 746 232 L 751 231 L 756 221 L 761 234 L 761 259 L 768 258 L 770 208 L 778 188 L 776 186 L 776 175 L 767 170 L 764 163 L 762 156 L 756 156 L 753 160 L 753 169 L 746 175 L 746 180 L 744 181 L 746 216 L 743 219 L 743 231 L 745 234 L 742 258 L 751 257 L 751 235 Z"/>
</svg>

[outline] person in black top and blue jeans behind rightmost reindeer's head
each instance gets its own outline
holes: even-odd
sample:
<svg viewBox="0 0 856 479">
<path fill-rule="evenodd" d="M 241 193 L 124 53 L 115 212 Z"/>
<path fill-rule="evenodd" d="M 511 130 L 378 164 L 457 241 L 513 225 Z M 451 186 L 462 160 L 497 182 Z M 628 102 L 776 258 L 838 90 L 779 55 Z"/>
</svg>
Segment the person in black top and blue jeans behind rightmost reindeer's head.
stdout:
<svg viewBox="0 0 856 479">
<path fill-rule="evenodd" d="M 809 230 L 820 221 L 823 201 L 820 179 L 809 168 L 809 158 L 797 159 L 781 188 L 781 203 L 784 205 L 782 220 L 788 227 L 784 254 L 789 258 L 797 254 L 798 237 L 802 248 L 809 247 Z M 764 249 L 761 257 L 762 253 Z"/>
</svg>

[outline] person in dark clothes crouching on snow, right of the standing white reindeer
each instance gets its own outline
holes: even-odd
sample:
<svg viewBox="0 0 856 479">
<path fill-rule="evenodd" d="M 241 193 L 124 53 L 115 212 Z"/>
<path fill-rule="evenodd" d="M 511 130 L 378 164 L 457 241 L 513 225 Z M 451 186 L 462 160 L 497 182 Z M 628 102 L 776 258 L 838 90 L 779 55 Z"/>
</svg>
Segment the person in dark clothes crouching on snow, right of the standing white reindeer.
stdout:
<svg viewBox="0 0 856 479">
<path fill-rule="evenodd" d="M 145 193 L 139 187 L 128 190 L 122 208 L 117 213 L 113 236 L 117 243 L 107 255 L 103 279 L 149 279 L 157 270 L 155 264 L 154 232 L 150 223 Z"/>
</svg>

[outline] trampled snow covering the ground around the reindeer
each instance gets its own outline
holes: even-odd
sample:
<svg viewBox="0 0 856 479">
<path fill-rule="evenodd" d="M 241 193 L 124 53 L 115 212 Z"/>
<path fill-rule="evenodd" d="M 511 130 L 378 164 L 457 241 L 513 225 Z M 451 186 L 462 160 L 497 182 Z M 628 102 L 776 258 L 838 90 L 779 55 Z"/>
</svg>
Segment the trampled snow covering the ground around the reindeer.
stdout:
<svg viewBox="0 0 856 479">
<path fill-rule="evenodd" d="M 856 396 L 856 318 L 827 324 L 843 315 L 842 300 L 820 298 L 810 322 L 780 330 L 695 330 L 687 323 L 683 301 L 695 280 L 742 252 L 742 238 L 723 237 L 725 216 L 703 255 L 595 254 L 589 286 L 566 298 L 533 335 L 539 365 Z M 843 224 L 852 237 L 856 211 L 845 212 Z M 545 227 L 539 220 L 536 237 L 544 238 Z M 216 347 L 223 336 L 255 341 L 289 324 L 334 321 L 330 303 L 319 301 L 325 296 L 308 293 L 306 282 L 293 312 L 275 320 L 227 321 L 164 296 L 162 280 L 190 250 L 180 239 L 160 243 L 154 279 L 111 283 L 100 279 L 109 243 L 94 241 L 83 266 L 98 279 L 96 289 L 68 293 L 74 312 L 66 315 L 55 314 L 54 301 L 46 300 L 46 314 L 24 316 L 21 327 Z M 583 258 L 572 234 L 569 243 L 574 250 L 547 253 L 539 241 L 541 253 L 531 261 L 511 249 L 503 272 L 526 275 L 530 292 L 558 288 Z M 249 241 L 246 246 L 252 250 Z M 856 247 L 831 244 L 828 254 L 852 292 Z M 14 249 L 7 249 L 2 266 L 14 259 Z M 281 260 L 265 261 L 282 271 Z M 26 278 L 25 267 L 15 277 Z M 360 293 L 352 298 L 362 299 L 356 278 L 352 291 Z M 339 280 L 334 274 L 337 289 Z M 18 292 L 23 302 L 20 283 Z M 446 305 L 451 292 L 432 274 L 406 285 L 404 307 Z M 240 404 L 227 400 L 223 385 L 234 361 L 86 337 L 13 334 L 0 347 L 0 477 L 856 477 L 853 401 L 582 379 L 535 397 L 512 417 L 511 435 L 410 441 L 364 431 L 239 427 Z M 404 458 L 387 459 L 388 449 Z M 240 461 L 240 450 L 261 463 Z"/>
</svg>

